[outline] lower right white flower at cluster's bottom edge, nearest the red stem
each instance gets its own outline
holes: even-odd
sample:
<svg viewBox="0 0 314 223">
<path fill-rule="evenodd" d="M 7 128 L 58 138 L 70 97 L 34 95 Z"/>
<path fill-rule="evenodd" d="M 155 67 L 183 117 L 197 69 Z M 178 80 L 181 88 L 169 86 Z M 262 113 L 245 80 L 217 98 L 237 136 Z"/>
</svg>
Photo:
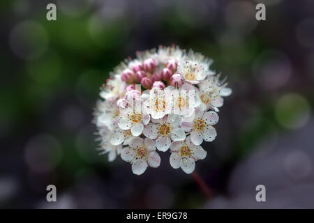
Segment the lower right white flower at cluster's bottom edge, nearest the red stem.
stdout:
<svg viewBox="0 0 314 223">
<path fill-rule="evenodd" d="M 207 152 L 202 146 L 195 146 L 190 141 L 190 136 L 184 141 L 174 141 L 170 146 L 172 154 L 170 155 L 170 165 L 174 169 L 181 169 L 186 174 L 191 174 L 195 169 L 195 161 L 203 160 Z"/>
</svg>

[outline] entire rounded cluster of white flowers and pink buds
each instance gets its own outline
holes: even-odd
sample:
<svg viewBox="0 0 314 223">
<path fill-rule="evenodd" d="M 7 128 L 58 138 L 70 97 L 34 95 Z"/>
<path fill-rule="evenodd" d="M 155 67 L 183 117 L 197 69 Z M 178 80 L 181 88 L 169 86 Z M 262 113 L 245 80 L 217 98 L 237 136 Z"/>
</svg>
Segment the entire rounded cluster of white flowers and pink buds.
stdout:
<svg viewBox="0 0 314 223">
<path fill-rule="evenodd" d="M 103 85 L 96 106 L 100 151 L 118 155 L 134 174 L 159 167 L 158 152 L 170 151 L 170 165 L 190 174 L 213 141 L 223 97 L 232 93 L 212 61 L 192 50 L 162 47 L 137 52 L 122 62 Z"/>
</svg>

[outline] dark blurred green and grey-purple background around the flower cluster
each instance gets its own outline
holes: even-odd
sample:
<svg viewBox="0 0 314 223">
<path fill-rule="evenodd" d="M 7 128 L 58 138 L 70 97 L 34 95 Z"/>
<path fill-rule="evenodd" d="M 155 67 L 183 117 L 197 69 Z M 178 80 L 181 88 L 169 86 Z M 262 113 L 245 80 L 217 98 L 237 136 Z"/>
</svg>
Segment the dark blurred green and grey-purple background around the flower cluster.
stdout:
<svg viewBox="0 0 314 223">
<path fill-rule="evenodd" d="M 0 208 L 314 208 L 314 1 L 1 0 L 0 12 Z M 233 89 L 196 165 L 210 199 L 167 153 L 135 176 L 96 151 L 109 72 L 171 44 L 214 59 Z"/>
</svg>

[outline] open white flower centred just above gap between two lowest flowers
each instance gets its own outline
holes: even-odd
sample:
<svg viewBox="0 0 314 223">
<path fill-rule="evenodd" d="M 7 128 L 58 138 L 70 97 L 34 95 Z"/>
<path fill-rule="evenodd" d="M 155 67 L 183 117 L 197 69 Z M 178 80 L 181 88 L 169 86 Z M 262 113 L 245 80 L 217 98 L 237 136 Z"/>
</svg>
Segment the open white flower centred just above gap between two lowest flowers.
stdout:
<svg viewBox="0 0 314 223">
<path fill-rule="evenodd" d="M 179 115 L 169 114 L 162 119 L 152 120 L 153 123 L 145 125 L 143 134 L 145 137 L 156 139 L 156 147 L 159 151 L 167 151 L 172 141 L 186 139 L 186 133 L 180 128 L 182 118 Z"/>
</svg>

